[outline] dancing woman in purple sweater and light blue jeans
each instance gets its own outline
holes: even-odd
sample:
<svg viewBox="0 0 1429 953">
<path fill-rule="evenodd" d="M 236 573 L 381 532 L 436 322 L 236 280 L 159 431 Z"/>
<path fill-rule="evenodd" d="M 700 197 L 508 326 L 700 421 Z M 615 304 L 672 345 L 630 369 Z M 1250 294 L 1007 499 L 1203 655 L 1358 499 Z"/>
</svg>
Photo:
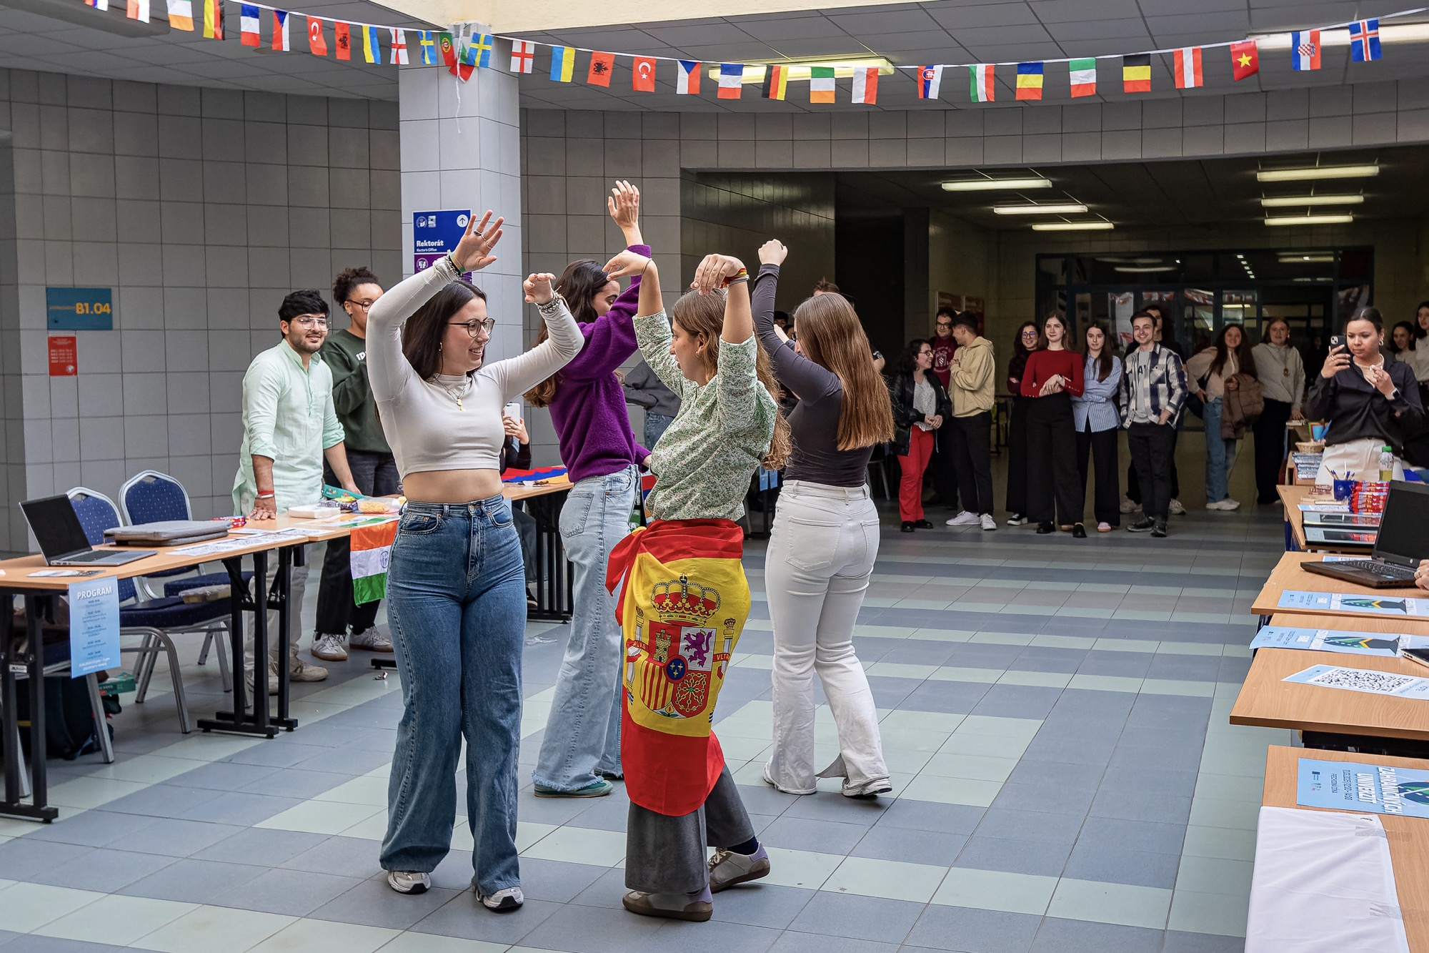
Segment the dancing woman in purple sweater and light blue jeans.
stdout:
<svg viewBox="0 0 1429 953">
<path fill-rule="evenodd" d="M 640 193 L 617 182 L 610 218 L 630 250 L 649 256 L 640 236 Z M 556 697 L 532 780 L 536 797 L 600 797 L 620 770 L 620 627 L 606 591 L 610 551 L 630 532 L 640 487 L 639 465 L 650 451 L 636 442 L 616 368 L 636 351 L 640 279 L 620 293 L 600 266 L 572 262 L 560 293 L 580 322 L 584 346 L 560 373 L 526 394 L 549 406 L 560 458 L 574 484 L 560 511 L 560 538 L 574 565 L 570 642 L 556 677 Z M 544 331 L 542 332 L 544 333 Z"/>
</svg>

